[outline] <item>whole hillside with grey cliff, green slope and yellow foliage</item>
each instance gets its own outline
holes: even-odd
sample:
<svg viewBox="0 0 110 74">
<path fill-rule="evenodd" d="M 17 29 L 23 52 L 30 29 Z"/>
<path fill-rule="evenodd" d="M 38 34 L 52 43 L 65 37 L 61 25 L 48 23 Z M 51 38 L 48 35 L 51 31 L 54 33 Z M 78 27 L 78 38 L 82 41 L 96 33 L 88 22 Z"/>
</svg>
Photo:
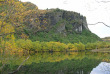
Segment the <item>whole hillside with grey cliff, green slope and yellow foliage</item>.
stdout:
<svg viewBox="0 0 110 74">
<path fill-rule="evenodd" d="M 90 32 L 86 17 L 80 13 L 58 8 L 40 10 L 30 2 L 18 0 L 0 4 L 0 26 L 0 33 L 6 39 L 14 33 L 16 39 L 32 41 L 87 43 L 101 40 Z"/>
</svg>

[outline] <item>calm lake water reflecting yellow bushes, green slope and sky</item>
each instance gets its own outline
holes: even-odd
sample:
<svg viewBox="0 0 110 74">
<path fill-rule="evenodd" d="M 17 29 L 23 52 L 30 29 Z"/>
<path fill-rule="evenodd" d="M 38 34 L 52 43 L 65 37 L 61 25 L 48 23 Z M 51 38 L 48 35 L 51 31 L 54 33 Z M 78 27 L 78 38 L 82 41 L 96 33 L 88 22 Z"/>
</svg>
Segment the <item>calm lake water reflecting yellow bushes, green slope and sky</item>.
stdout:
<svg viewBox="0 0 110 74">
<path fill-rule="evenodd" d="M 0 74 L 15 71 L 27 57 L 28 55 L 0 56 Z M 31 54 L 15 74 L 110 74 L 110 53 Z"/>
</svg>

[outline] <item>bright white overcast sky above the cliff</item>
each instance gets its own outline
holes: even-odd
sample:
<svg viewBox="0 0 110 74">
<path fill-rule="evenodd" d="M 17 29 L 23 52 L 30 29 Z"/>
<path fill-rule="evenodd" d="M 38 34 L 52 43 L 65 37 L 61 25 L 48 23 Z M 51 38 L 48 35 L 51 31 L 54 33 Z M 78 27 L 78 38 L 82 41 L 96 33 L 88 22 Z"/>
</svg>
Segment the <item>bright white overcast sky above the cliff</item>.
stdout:
<svg viewBox="0 0 110 74">
<path fill-rule="evenodd" d="M 87 18 L 88 24 L 104 22 L 110 26 L 110 0 L 21 0 L 31 2 L 39 9 L 60 8 L 78 12 Z M 104 1 L 104 2 L 103 2 Z M 88 25 L 99 37 L 110 36 L 110 28 L 103 24 Z"/>
</svg>

